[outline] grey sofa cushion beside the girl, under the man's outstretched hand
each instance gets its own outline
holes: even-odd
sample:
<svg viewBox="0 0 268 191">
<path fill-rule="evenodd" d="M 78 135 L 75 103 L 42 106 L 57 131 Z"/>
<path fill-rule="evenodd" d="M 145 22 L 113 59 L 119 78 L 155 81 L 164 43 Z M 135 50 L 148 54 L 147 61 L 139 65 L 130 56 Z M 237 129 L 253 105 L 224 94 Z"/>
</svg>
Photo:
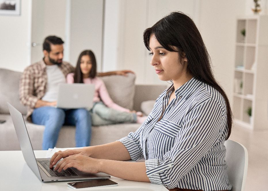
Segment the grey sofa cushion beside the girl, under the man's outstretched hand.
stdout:
<svg viewBox="0 0 268 191">
<path fill-rule="evenodd" d="M 104 81 L 113 102 L 119 106 L 133 110 L 135 74 L 128 73 L 128 76 L 103 76 L 101 79 Z"/>
</svg>

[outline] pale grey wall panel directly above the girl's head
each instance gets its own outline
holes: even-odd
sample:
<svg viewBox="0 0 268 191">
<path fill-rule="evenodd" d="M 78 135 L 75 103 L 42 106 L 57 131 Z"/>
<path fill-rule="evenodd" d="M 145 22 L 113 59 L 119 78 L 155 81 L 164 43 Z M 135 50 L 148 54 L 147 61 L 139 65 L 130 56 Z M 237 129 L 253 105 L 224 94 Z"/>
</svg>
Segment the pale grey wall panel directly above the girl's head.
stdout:
<svg viewBox="0 0 268 191">
<path fill-rule="evenodd" d="M 82 50 L 91 49 L 101 68 L 103 1 L 71 1 L 70 62 L 76 65 Z"/>
</svg>

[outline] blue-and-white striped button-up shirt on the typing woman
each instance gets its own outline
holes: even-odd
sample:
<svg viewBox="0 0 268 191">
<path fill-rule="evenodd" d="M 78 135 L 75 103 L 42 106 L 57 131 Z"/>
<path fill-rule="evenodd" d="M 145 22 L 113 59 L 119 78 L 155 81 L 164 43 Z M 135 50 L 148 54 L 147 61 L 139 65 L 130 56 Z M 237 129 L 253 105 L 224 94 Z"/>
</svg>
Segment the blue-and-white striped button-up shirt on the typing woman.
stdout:
<svg viewBox="0 0 268 191">
<path fill-rule="evenodd" d="M 145 160 L 153 183 L 230 190 L 224 160 L 228 128 L 223 96 L 196 78 L 176 89 L 176 98 L 168 104 L 172 91 L 173 84 L 157 98 L 140 128 L 119 141 L 132 160 Z"/>
</svg>

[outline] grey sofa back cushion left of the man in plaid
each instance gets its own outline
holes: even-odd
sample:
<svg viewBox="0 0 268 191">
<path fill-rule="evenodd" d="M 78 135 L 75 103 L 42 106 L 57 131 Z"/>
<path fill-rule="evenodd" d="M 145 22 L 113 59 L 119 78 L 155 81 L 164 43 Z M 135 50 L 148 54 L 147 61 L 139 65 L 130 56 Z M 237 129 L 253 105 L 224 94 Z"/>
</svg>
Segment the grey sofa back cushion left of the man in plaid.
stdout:
<svg viewBox="0 0 268 191">
<path fill-rule="evenodd" d="M 0 68 L 0 113 L 9 114 L 7 102 L 26 115 L 27 108 L 20 103 L 19 82 L 22 72 Z"/>
</svg>

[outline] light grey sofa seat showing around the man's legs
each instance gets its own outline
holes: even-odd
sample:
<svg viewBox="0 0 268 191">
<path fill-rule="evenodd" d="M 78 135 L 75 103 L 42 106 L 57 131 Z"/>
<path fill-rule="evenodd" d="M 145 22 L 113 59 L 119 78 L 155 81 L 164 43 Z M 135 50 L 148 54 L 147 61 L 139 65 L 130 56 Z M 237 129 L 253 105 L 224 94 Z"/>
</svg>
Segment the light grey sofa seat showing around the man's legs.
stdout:
<svg viewBox="0 0 268 191">
<path fill-rule="evenodd" d="M 20 150 L 20 145 L 11 116 L 2 114 L 0 115 L 0 119 L 6 120 L 5 123 L 0 124 L 0 151 Z M 33 149 L 41 150 L 45 126 L 35 125 L 28 121 L 25 121 L 25 124 Z M 119 140 L 120 138 L 127 136 L 129 132 L 136 131 L 139 127 L 140 124 L 138 123 L 93 126 L 91 145 L 100 145 Z M 63 126 L 61 128 L 56 147 L 75 147 L 75 126 Z"/>
</svg>

